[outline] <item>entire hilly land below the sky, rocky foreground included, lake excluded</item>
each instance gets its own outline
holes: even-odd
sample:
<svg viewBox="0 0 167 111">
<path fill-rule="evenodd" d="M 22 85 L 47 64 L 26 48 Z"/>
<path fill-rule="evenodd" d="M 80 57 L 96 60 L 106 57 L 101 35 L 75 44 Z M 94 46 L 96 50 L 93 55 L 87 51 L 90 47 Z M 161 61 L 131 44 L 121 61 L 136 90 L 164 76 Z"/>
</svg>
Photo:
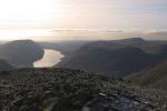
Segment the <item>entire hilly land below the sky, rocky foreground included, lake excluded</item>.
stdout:
<svg viewBox="0 0 167 111">
<path fill-rule="evenodd" d="M 0 111 L 167 110 L 166 41 L 80 43 L 0 44 Z M 66 54 L 56 65 L 63 68 L 29 68 L 43 49 Z"/>
</svg>

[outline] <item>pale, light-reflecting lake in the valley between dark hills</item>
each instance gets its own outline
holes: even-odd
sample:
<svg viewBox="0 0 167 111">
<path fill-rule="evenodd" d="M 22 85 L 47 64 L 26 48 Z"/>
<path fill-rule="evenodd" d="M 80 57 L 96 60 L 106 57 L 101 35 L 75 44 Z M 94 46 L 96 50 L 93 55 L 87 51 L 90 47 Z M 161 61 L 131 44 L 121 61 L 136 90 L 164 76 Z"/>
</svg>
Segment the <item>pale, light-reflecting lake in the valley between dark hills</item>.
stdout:
<svg viewBox="0 0 167 111">
<path fill-rule="evenodd" d="M 65 56 L 57 50 L 45 49 L 43 58 L 33 63 L 35 68 L 53 67 L 59 63 Z"/>
</svg>

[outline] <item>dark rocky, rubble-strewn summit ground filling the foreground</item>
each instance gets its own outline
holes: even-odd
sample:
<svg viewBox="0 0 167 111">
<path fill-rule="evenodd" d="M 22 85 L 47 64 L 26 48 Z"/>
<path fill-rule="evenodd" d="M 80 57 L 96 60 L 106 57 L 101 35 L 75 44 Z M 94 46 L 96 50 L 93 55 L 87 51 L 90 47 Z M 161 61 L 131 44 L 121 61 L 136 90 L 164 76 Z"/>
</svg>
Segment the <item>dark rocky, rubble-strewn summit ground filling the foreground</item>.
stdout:
<svg viewBox="0 0 167 111">
<path fill-rule="evenodd" d="M 21 69 L 0 73 L 2 111 L 166 111 L 160 91 L 80 70 Z"/>
</svg>

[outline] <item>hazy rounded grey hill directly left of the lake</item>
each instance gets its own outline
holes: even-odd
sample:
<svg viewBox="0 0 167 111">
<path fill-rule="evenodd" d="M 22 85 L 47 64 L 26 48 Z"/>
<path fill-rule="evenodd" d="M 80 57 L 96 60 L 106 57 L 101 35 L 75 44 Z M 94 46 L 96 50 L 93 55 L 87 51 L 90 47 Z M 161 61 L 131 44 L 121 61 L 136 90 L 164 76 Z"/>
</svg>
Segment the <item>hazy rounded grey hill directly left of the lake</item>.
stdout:
<svg viewBox="0 0 167 111">
<path fill-rule="evenodd" d="M 31 40 L 16 40 L 0 47 L 0 59 L 16 68 L 32 67 L 43 56 L 43 49 Z"/>
</svg>

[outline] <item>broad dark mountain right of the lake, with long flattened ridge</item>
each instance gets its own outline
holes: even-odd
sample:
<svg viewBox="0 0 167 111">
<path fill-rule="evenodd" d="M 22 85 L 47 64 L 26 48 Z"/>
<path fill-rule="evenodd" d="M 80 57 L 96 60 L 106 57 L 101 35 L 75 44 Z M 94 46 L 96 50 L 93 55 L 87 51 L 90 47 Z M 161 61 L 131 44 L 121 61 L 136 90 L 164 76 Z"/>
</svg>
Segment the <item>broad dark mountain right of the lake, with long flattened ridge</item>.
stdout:
<svg viewBox="0 0 167 111">
<path fill-rule="evenodd" d="M 117 42 L 97 41 L 82 46 L 56 67 L 122 78 L 166 59 L 166 49 L 167 44 L 154 44 L 138 38 Z"/>
</svg>

